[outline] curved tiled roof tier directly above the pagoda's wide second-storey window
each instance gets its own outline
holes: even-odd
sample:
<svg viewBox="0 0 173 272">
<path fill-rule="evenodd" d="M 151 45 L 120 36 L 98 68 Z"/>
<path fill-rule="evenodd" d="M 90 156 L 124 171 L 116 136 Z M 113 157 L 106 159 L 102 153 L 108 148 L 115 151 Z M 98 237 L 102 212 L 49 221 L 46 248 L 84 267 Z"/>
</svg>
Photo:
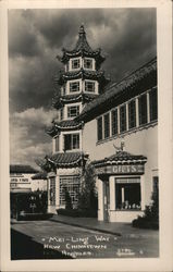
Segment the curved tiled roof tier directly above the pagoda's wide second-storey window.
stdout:
<svg viewBox="0 0 173 272">
<path fill-rule="evenodd" d="M 64 131 L 73 131 L 73 129 L 79 129 L 83 126 L 83 122 L 78 122 L 76 120 L 63 120 L 61 122 L 52 122 L 52 125 L 50 127 L 47 127 L 46 132 L 50 136 L 55 136 L 59 134 L 59 132 L 64 132 Z"/>
</svg>

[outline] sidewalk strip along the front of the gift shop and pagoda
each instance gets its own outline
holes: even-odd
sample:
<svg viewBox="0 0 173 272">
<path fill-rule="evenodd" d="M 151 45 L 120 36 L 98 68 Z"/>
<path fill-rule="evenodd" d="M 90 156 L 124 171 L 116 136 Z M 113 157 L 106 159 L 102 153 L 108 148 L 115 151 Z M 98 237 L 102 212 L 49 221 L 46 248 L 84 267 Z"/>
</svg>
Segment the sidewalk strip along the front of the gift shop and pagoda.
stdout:
<svg viewBox="0 0 173 272">
<path fill-rule="evenodd" d="M 98 221 L 94 218 L 71 218 L 65 215 L 54 214 L 50 221 L 59 222 L 72 226 L 78 226 L 90 231 L 97 231 L 107 234 L 125 237 L 144 237 L 158 235 L 158 231 L 141 230 L 133 227 L 131 223 L 110 223 Z"/>
</svg>

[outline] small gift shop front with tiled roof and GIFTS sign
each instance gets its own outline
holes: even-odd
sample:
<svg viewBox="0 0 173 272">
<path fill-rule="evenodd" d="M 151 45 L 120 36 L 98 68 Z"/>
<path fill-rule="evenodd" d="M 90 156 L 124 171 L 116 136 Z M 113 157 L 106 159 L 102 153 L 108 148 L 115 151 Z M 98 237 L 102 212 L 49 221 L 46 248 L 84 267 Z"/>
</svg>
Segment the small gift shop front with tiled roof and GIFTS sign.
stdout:
<svg viewBox="0 0 173 272">
<path fill-rule="evenodd" d="M 145 209 L 147 158 L 125 151 L 94 161 L 98 180 L 98 220 L 132 222 Z"/>
</svg>

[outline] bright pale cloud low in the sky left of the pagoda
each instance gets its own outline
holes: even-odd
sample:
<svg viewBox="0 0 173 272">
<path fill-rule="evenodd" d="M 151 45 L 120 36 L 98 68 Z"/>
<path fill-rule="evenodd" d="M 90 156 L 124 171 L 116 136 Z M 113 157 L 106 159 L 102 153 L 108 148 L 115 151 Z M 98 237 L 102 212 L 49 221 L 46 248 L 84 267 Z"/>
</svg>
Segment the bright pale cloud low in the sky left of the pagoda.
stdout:
<svg viewBox="0 0 173 272">
<path fill-rule="evenodd" d="M 11 163 L 35 164 L 35 160 L 51 152 L 51 138 L 45 127 L 57 116 L 54 111 L 44 108 L 27 109 L 11 115 L 10 153 Z"/>
</svg>

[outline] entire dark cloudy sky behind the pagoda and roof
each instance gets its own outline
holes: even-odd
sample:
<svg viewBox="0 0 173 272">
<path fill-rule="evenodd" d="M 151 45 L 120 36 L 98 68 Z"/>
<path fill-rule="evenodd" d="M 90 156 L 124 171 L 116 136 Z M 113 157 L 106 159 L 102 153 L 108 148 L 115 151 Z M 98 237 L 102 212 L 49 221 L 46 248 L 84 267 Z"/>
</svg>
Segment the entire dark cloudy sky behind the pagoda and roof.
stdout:
<svg viewBox="0 0 173 272">
<path fill-rule="evenodd" d="M 10 162 L 30 164 L 52 150 L 46 134 L 57 112 L 53 76 L 62 48 L 73 49 L 84 24 L 92 49 L 107 57 L 111 83 L 157 55 L 156 9 L 9 11 Z"/>
</svg>

